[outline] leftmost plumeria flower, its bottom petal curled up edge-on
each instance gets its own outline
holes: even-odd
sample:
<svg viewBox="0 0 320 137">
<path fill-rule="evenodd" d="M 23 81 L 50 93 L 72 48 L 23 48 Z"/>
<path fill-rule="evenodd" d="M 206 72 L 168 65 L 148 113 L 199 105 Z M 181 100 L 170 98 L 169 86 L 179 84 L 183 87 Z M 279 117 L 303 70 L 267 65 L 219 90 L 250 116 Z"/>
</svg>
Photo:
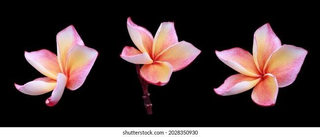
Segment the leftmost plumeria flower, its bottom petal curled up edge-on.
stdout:
<svg viewBox="0 0 320 137">
<path fill-rule="evenodd" d="M 27 52 L 27 61 L 47 77 L 37 78 L 16 88 L 29 95 L 40 95 L 53 91 L 46 100 L 48 106 L 54 106 L 60 100 L 64 88 L 77 90 L 83 84 L 92 68 L 98 52 L 84 46 L 73 25 L 60 31 L 56 36 L 57 55 L 47 49 Z"/>
</svg>

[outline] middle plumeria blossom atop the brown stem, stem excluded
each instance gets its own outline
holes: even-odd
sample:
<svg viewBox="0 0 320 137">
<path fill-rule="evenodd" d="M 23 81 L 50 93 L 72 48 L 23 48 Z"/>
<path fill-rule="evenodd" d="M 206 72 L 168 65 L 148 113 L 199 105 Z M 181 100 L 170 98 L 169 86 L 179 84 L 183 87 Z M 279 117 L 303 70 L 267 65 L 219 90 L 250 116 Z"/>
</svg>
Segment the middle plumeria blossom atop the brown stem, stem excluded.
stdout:
<svg viewBox="0 0 320 137">
<path fill-rule="evenodd" d="M 178 42 L 173 22 L 161 23 L 155 38 L 147 29 L 133 23 L 130 17 L 127 27 L 139 50 L 125 46 L 120 57 L 133 64 L 144 64 L 140 75 L 148 83 L 167 84 L 173 71 L 187 67 L 201 52 L 190 43 Z"/>
</svg>

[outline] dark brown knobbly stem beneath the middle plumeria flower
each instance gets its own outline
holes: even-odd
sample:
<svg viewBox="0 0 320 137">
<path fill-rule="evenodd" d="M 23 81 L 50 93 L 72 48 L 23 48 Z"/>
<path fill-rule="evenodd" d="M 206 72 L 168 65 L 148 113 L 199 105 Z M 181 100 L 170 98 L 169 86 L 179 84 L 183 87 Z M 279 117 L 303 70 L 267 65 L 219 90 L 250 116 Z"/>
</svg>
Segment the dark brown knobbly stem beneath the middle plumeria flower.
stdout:
<svg viewBox="0 0 320 137">
<path fill-rule="evenodd" d="M 138 75 L 138 78 L 140 80 L 141 86 L 142 86 L 142 90 L 143 90 L 143 100 L 144 100 L 144 107 L 146 107 L 147 110 L 147 114 L 152 114 L 152 104 L 150 102 L 150 93 L 148 92 L 148 86 L 149 83 L 145 80 L 143 80 L 140 76 L 140 65 L 136 64 L 135 65 L 136 68 L 136 74 Z"/>
</svg>

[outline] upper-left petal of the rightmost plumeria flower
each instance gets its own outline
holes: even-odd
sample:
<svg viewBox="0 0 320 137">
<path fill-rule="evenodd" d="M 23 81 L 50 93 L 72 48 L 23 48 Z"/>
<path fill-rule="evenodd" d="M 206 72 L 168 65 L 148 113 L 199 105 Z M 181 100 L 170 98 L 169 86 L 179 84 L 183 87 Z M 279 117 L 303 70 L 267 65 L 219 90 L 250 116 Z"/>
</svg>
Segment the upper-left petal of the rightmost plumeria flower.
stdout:
<svg viewBox="0 0 320 137">
<path fill-rule="evenodd" d="M 223 51 L 215 50 L 215 54 L 224 64 L 239 73 L 252 77 L 261 77 L 252 55 L 242 48 L 234 47 Z"/>
</svg>

